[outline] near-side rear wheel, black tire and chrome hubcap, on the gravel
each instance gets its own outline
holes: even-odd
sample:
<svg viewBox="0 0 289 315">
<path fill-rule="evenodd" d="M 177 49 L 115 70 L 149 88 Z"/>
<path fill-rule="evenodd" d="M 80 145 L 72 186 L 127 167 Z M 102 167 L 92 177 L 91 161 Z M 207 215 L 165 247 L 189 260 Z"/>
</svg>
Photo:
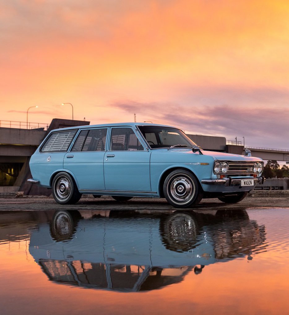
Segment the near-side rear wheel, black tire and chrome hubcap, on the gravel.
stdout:
<svg viewBox="0 0 289 315">
<path fill-rule="evenodd" d="M 81 193 L 68 173 L 58 173 L 52 181 L 52 195 L 56 202 L 60 204 L 77 203 L 81 198 Z"/>
</svg>

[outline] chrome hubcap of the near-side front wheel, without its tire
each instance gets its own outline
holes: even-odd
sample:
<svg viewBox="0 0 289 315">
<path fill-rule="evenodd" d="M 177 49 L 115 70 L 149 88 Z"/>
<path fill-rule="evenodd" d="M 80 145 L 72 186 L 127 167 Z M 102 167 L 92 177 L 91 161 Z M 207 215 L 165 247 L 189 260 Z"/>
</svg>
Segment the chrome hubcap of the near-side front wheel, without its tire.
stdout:
<svg viewBox="0 0 289 315">
<path fill-rule="evenodd" d="M 184 176 L 175 177 L 170 185 L 171 196 L 177 201 L 187 201 L 194 193 L 192 182 Z"/>
</svg>

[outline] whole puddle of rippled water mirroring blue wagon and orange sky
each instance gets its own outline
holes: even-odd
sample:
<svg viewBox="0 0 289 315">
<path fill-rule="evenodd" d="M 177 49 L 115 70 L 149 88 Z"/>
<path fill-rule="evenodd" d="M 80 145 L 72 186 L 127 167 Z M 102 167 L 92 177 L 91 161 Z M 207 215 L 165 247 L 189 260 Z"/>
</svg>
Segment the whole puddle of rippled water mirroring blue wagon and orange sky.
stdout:
<svg viewBox="0 0 289 315">
<path fill-rule="evenodd" d="M 279 314 L 288 219 L 287 209 L 1 212 L 1 314 Z"/>
</svg>

